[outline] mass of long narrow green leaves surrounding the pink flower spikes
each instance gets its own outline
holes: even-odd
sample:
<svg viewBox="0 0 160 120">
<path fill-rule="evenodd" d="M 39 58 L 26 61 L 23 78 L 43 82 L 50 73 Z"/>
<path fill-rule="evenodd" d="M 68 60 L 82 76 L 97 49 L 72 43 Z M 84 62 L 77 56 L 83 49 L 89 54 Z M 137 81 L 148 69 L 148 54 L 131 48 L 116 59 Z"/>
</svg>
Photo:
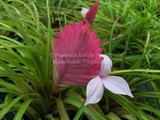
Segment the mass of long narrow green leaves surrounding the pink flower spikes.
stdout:
<svg viewBox="0 0 160 120">
<path fill-rule="evenodd" d="M 98 104 L 85 109 L 85 87 L 52 94 L 51 42 L 68 22 L 84 19 L 81 8 L 95 1 L 0 1 L 0 119 L 9 112 L 14 120 L 160 119 L 159 0 L 100 0 L 91 29 L 113 61 L 111 74 L 122 76 L 135 98 L 105 90 Z"/>
</svg>

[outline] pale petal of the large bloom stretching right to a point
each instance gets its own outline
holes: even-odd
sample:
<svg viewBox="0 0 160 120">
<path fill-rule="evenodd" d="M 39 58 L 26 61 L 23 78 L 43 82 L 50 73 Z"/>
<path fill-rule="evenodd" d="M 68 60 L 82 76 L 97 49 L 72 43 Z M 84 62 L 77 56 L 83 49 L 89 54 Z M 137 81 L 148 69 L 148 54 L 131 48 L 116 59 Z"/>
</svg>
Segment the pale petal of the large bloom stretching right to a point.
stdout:
<svg viewBox="0 0 160 120">
<path fill-rule="evenodd" d="M 106 89 L 116 94 L 128 95 L 134 97 L 131 93 L 128 83 L 118 76 L 107 76 L 102 78 L 103 85 Z"/>
</svg>

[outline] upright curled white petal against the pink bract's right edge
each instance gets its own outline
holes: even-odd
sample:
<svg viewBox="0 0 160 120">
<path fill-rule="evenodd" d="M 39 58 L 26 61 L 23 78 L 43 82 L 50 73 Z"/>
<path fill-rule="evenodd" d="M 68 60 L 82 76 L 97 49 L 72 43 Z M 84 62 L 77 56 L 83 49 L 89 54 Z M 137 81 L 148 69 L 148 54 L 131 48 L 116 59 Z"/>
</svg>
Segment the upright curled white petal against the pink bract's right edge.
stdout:
<svg viewBox="0 0 160 120">
<path fill-rule="evenodd" d="M 99 72 L 99 76 L 103 78 L 103 77 L 106 77 L 111 72 L 112 61 L 108 56 L 104 54 L 101 54 L 100 57 L 104 58 L 101 63 L 101 69 Z"/>
</svg>

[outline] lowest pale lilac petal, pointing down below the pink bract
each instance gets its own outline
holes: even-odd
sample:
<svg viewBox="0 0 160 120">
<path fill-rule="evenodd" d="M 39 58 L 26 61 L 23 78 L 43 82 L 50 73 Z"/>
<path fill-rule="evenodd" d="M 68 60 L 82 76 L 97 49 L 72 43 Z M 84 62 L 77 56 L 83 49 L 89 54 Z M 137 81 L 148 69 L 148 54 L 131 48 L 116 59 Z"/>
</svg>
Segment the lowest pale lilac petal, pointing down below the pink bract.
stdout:
<svg viewBox="0 0 160 120">
<path fill-rule="evenodd" d="M 101 100 L 104 86 L 99 76 L 93 78 L 87 85 L 87 100 L 84 105 L 94 104 Z"/>
</svg>

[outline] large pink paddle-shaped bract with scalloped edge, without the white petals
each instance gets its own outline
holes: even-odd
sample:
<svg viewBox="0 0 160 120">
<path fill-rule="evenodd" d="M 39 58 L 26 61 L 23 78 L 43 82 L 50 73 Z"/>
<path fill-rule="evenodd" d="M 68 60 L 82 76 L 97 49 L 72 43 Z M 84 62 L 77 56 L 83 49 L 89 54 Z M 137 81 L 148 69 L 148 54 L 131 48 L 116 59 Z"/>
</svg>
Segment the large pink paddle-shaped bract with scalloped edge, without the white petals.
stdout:
<svg viewBox="0 0 160 120">
<path fill-rule="evenodd" d="M 96 36 L 97 31 L 91 33 L 89 23 L 81 20 L 78 25 L 75 21 L 68 23 L 54 38 L 52 58 L 57 84 L 87 85 L 99 74 L 103 57 L 99 57 L 101 40 Z"/>
</svg>

